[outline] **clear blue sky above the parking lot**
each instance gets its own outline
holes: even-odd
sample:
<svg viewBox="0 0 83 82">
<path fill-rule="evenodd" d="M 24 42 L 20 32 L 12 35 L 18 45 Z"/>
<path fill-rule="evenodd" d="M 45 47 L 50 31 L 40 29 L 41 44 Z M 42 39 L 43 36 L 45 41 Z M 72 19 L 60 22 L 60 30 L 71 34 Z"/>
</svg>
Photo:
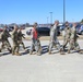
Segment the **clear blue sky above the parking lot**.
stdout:
<svg viewBox="0 0 83 82">
<path fill-rule="evenodd" d="M 66 21 L 83 19 L 83 0 L 66 0 Z M 0 0 L 0 24 L 63 21 L 63 0 Z M 48 19 L 47 19 L 48 17 Z"/>
</svg>

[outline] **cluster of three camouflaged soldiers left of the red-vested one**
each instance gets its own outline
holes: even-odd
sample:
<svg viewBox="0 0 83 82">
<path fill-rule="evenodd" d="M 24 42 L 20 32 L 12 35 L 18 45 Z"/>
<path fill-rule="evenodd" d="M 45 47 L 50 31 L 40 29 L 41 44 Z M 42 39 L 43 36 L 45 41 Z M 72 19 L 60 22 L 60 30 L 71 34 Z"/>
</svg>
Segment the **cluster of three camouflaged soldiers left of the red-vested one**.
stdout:
<svg viewBox="0 0 83 82">
<path fill-rule="evenodd" d="M 11 47 L 9 37 L 12 38 L 13 42 L 13 47 Z M 10 34 L 7 30 L 7 26 L 4 26 L 3 32 L 1 33 L 1 47 L 0 47 L 0 52 L 2 49 L 7 48 L 12 55 L 21 56 L 19 52 L 20 50 L 20 45 L 23 45 L 23 48 L 25 49 L 24 43 L 22 40 L 22 37 L 24 37 L 24 34 L 22 34 L 22 30 L 19 30 L 19 26 L 15 25 L 12 34 Z"/>
</svg>

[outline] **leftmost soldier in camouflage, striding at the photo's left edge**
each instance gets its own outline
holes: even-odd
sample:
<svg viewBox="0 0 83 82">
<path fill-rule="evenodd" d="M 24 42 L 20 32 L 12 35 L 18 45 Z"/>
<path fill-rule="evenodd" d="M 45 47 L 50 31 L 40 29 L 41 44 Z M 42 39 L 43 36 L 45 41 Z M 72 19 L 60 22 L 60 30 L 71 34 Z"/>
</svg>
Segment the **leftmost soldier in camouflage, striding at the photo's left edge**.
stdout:
<svg viewBox="0 0 83 82">
<path fill-rule="evenodd" d="M 10 33 L 8 32 L 7 30 L 7 26 L 4 26 L 3 28 L 3 32 L 1 33 L 1 42 L 2 42 L 2 45 L 1 45 L 1 49 L 0 51 L 3 49 L 3 48 L 8 48 L 8 50 L 11 52 L 12 51 L 12 48 L 11 48 L 11 45 L 8 40 L 8 38 L 10 37 Z"/>
</svg>

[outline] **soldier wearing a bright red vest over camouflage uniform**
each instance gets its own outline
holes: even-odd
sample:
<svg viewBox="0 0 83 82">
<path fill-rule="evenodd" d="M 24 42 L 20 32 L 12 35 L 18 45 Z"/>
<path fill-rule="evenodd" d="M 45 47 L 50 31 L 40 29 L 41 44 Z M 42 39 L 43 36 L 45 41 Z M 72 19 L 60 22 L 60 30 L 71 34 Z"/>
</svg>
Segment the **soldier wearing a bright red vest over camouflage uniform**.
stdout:
<svg viewBox="0 0 83 82">
<path fill-rule="evenodd" d="M 42 54 L 42 47 L 40 47 L 40 42 L 38 38 L 37 23 L 34 23 L 34 26 L 33 26 L 31 34 L 32 34 L 32 46 L 31 46 L 29 55 L 33 54 L 34 48 L 36 50 L 36 54 L 40 55 Z"/>
</svg>

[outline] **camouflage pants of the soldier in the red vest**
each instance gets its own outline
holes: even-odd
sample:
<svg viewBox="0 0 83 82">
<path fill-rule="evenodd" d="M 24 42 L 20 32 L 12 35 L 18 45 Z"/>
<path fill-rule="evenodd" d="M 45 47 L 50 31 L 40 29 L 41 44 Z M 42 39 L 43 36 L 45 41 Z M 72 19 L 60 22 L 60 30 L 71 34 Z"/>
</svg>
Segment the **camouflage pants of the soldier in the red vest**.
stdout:
<svg viewBox="0 0 83 82">
<path fill-rule="evenodd" d="M 36 50 L 36 52 L 38 52 L 40 50 L 40 42 L 39 39 L 32 39 L 32 46 L 31 46 L 31 51 L 33 51 L 34 49 Z"/>
</svg>

